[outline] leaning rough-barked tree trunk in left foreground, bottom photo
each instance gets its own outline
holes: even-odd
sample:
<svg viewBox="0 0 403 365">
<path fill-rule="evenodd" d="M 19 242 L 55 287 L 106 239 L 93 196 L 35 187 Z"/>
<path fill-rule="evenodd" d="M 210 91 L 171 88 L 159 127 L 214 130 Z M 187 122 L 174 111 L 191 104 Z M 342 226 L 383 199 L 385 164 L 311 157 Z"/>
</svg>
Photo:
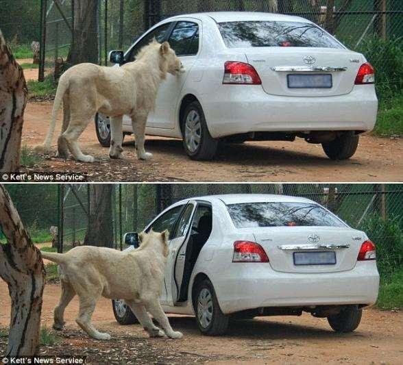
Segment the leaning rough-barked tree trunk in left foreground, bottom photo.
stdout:
<svg viewBox="0 0 403 365">
<path fill-rule="evenodd" d="M 38 351 L 45 268 L 8 192 L 0 185 L 0 277 L 8 284 L 12 307 L 5 355 L 35 355 Z"/>
</svg>

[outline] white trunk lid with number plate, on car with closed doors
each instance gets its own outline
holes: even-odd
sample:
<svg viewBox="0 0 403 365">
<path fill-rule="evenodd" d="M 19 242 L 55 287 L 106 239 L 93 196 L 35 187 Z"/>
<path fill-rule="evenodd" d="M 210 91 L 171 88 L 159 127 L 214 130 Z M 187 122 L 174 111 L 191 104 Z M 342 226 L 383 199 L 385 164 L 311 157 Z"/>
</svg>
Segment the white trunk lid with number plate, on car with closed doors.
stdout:
<svg viewBox="0 0 403 365">
<path fill-rule="evenodd" d="M 362 55 L 347 49 L 249 47 L 239 51 L 245 52 L 247 62 L 258 72 L 265 92 L 282 96 L 348 94 L 354 87 L 358 68 L 365 62 Z M 293 75 L 303 76 L 296 80 Z M 296 86 L 295 81 L 303 84 Z"/>
</svg>

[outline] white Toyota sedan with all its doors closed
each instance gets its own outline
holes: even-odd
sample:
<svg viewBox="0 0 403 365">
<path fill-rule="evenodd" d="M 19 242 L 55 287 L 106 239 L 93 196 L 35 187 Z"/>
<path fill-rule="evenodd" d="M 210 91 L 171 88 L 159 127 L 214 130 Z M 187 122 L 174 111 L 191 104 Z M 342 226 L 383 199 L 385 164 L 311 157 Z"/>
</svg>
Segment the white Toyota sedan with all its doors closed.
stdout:
<svg viewBox="0 0 403 365">
<path fill-rule="evenodd" d="M 329 158 L 350 158 L 358 135 L 374 128 L 374 68 L 315 23 L 297 16 L 211 12 L 173 16 L 128 49 L 133 61 L 153 38 L 168 40 L 186 72 L 168 75 L 146 134 L 181 138 L 195 160 L 211 159 L 219 140 L 321 143 Z M 119 65 L 117 65 L 119 66 Z M 95 117 L 110 143 L 109 121 Z M 132 133 L 129 116 L 123 131 Z"/>
</svg>

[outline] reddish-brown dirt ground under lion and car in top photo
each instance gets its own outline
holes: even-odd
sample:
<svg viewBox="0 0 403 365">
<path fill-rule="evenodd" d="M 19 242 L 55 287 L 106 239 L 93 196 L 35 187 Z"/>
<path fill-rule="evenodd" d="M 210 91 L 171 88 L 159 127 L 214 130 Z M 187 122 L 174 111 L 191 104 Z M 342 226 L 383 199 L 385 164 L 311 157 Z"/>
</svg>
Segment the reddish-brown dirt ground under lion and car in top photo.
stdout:
<svg viewBox="0 0 403 365">
<path fill-rule="evenodd" d="M 49 127 L 51 102 L 30 102 L 25 111 L 23 145 L 41 143 Z M 60 130 L 60 118 L 58 129 Z M 58 130 L 56 131 L 56 135 Z M 110 160 L 101 147 L 92 123 L 80 139 L 84 153 L 95 155 L 94 164 L 44 160 L 23 171 L 86 173 L 88 181 L 402 181 L 403 138 L 361 136 L 356 154 L 347 161 L 326 158 L 321 146 L 298 139 L 295 142 L 246 142 L 222 144 L 214 161 L 192 161 L 182 141 L 147 136 L 149 162 L 135 158 L 134 138 L 126 136 L 122 160 Z M 54 138 L 56 151 L 56 136 Z"/>
</svg>

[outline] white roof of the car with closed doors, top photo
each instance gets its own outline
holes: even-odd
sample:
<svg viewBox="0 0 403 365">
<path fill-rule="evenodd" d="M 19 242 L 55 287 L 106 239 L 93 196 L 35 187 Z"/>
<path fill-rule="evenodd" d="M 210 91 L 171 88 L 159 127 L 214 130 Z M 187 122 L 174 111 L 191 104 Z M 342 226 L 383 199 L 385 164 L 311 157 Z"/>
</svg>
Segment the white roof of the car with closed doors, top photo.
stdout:
<svg viewBox="0 0 403 365">
<path fill-rule="evenodd" d="M 266 12 L 202 12 L 192 14 L 181 14 L 168 18 L 175 20 L 175 18 L 192 17 L 192 18 L 212 18 L 217 23 L 227 21 L 300 21 L 310 23 L 308 19 L 301 18 L 300 16 L 266 13 Z M 167 21 L 168 19 L 164 19 Z"/>
</svg>

